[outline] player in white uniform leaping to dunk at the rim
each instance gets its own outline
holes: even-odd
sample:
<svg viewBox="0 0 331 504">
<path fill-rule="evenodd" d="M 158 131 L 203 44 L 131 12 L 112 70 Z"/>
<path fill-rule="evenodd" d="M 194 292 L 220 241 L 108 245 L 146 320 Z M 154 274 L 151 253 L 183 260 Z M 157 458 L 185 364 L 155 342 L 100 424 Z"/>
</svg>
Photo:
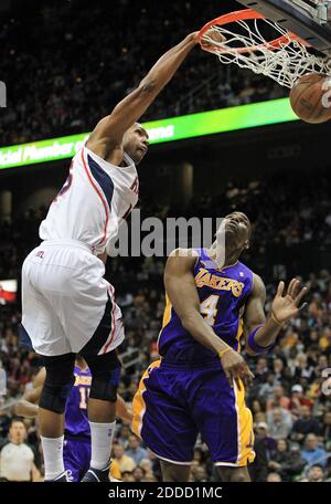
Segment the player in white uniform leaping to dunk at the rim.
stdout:
<svg viewBox="0 0 331 504">
<path fill-rule="evenodd" d="M 76 353 L 92 372 L 92 460 L 83 481 L 108 480 L 120 376 L 115 349 L 124 328 L 97 255 L 138 200 L 136 165 L 146 155 L 148 135 L 136 122 L 196 44 L 197 33 L 192 33 L 168 51 L 138 88 L 97 124 L 40 227 L 43 242 L 24 261 L 21 340 L 31 339 L 46 369 L 38 413 L 45 480 L 66 481 L 63 413 Z"/>
</svg>

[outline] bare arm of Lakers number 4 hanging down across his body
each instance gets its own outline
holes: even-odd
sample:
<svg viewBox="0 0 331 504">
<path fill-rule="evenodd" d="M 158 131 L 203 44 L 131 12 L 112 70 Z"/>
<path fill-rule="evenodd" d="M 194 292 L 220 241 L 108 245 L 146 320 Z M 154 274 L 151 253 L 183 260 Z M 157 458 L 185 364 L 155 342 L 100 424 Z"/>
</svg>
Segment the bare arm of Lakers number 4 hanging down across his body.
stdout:
<svg viewBox="0 0 331 504">
<path fill-rule="evenodd" d="M 195 286 L 193 267 L 196 255 L 183 249 L 172 252 L 164 270 L 164 285 L 169 300 L 183 327 L 201 345 L 217 354 L 229 385 L 242 379 L 249 385 L 254 375 L 243 357 L 221 339 L 200 313 L 200 298 Z"/>
</svg>

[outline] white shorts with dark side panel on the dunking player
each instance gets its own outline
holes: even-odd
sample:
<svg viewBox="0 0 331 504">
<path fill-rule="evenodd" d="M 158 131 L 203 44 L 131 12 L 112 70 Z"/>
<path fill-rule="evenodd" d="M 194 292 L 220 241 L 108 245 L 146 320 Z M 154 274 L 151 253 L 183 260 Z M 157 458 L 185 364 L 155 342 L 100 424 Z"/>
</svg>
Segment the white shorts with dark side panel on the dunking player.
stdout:
<svg viewBox="0 0 331 504">
<path fill-rule="evenodd" d="M 44 241 L 22 267 L 20 339 L 44 356 L 114 350 L 124 340 L 121 311 L 105 265 L 75 240 Z M 84 349 L 85 350 L 85 349 Z"/>
</svg>

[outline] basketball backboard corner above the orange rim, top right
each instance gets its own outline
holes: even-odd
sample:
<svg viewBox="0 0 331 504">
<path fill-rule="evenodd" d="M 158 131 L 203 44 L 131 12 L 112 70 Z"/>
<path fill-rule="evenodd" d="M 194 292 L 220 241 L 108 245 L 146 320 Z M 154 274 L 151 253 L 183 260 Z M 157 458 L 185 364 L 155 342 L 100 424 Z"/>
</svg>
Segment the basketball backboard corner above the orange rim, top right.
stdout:
<svg viewBox="0 0 331 504">
<path fill-rule="evenodd" d="M 237 0 L 331 56 L 331 0 Z"/>
</svg>

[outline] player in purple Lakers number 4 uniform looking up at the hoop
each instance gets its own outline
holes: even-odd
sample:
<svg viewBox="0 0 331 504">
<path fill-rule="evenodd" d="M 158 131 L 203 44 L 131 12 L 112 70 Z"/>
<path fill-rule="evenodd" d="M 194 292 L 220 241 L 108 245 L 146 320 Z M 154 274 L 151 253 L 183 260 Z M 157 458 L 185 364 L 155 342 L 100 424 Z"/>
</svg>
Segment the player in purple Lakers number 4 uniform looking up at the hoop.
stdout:
<svg viewBox="0 0 331 504">
<path fill-rule="evenodd" d="M 254 376 L 241 338 L 249 355 L 271 350 L 306 293 L 293 279 L 284 295 L 280 282 L 266 317 L 264 282 L 239 261 L 249 246 L 248 218 L 233 212 L 221 229 L 225 240 L 211 249 L 181 249 L 168 259 L 161 359 L 143 374 L 134 399 L 132 430 L 160 459 L 164 481 L 189 481 L 199 433 L 222 481 L 249 481 L 255 453 L 244 386 Z"/>
</svg>

